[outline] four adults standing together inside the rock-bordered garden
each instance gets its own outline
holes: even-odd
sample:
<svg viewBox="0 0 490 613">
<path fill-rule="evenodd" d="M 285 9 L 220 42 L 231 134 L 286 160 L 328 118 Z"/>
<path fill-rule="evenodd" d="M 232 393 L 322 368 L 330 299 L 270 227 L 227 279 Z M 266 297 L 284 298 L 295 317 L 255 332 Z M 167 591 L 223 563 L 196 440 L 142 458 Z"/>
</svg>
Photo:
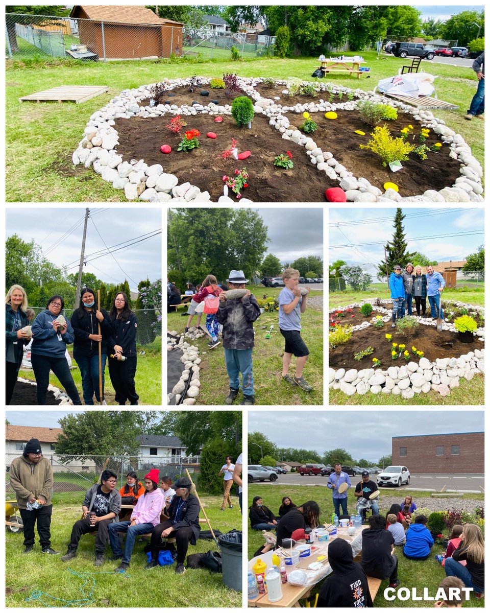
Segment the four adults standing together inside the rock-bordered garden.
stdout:
<svg viewBox="0 0 490 613">
<path fill-rule="evenodd" d="M 412 314 L 412 298 L 415 300 L 416 313 L 422 317 L 426 316 L 426 299 L 429 299 L 431 307 L 431 318 L 437 319 L 440 314 L 440 292 L 446 286 L 443 276 L 435 272 L 431 265 L 428 265 L 426 274 L 422 274 L 422 267 L 413 267 L 410 262 L 402 271 L 398 264 L 394 267 L 390 275 L 390 297 L 393 299 L 393 313 L 391 314 L 391 327 L 395 327 L 396 319 L 405 316 L 405 305 L 407 314 Z"/>
</svg>

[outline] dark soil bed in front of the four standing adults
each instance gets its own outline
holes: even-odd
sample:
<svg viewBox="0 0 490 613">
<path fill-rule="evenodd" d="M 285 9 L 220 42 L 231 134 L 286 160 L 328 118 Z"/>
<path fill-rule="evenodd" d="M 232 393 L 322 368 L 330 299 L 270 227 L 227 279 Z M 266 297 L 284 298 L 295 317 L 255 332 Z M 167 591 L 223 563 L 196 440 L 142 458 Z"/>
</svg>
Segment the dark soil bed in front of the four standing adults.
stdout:
<svg viewBox="0 0 490 613">
<path fill-rule="evenodd" d="M 372 316 L 371 316 L 372 317 Z M 347 320 L 350 318 L 344 318 Z M 342 320 L 341 320 L 342 321 Z M 352 319 L 355 321 L 355 319 Z M 364 321 L 366 321 L 364 319 Z M 359 324 L 360 321 L 357 322 Z M 342 321 L 342 326 L 344 326 Z M 391 334 L 391 340 L 388 342 L 385 335 Z M 483 349 L 484 345 L 480 341 L 475 343 L 461 343 L 458 340 L 458 334 L 442 330 L 437 332 L 435 326 L 419 325 L 413 333 L 408 336 L 403 336 L 392 329 L 391 324 L 385 324 L 382 328 L 367 326 L 363 330 L 353 332 L 350 340 L 344 345 L 339 345 L 335 349 L 330 348 L 328 351 L 328 364 L 331 368 L 372 368 L 372 358 L 377 357 L 381 360 L 381 368 L 386 370 L 390 366 L 402 366 L 407 364 L 404 357 L 399 357 L 396 360 L 391 359 L 391 343 L 405 345 L 406 351 L 410 353 L 410 361 L 418 362 L 418 357 L 412 353 L 412 345 L 418 351 L 424 352 L 430 362 L 435 359 L 443 359 L 445 357 L 459 357 L 467 354 L 475 349 Z M 354 359 L 354 353 L 364 351 L 368 347 L 372 347 L 374 352 L 370 356 L 364 357 L 358 361 Z M 379 368 L 379 367 L 378 367 Z"/>
</svg>

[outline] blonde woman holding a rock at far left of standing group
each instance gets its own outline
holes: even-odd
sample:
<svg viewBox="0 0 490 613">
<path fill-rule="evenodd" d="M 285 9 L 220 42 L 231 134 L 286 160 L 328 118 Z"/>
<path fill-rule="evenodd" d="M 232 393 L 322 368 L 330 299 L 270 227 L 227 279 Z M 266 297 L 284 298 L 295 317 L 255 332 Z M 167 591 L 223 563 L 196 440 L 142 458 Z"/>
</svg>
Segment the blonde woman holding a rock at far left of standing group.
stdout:
<svg viewBox="0 0 490 613">
<path fill-rule="evenodd" d="M 17 383 L 22 358 L 24 356 L 24 345 L 28 345 L 31 335 L 25 326 L 29 325 L 26 314 L 27 294 L 20 285 L 10 287 L 5 297 L 5 403 L 10 405 L 12 400 L 13 388 Z"/>
</svg>

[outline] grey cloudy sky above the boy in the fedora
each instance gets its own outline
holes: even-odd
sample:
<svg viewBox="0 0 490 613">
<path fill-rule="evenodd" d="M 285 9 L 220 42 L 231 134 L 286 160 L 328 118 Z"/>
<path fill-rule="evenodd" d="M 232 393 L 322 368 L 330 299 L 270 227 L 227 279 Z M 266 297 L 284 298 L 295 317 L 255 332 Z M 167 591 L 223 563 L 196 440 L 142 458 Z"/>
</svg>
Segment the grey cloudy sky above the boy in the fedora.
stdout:
<svg viewBox="0 0 490 613">
<path fill-rule="evenodd" d="M 323 210 L 321 208 L 255 208 L 268 227 L 271 239 L 267 253 L 281 264 L 298 257 L 318 256 L 323 260 Z"/>
</svg>

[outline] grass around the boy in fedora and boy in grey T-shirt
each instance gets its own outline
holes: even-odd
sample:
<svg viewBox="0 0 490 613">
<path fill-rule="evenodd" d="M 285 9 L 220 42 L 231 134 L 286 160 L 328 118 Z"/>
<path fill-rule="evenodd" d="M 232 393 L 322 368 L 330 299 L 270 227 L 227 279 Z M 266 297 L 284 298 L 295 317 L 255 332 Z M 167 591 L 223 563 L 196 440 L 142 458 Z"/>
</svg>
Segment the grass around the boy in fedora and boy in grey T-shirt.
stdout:
<svg viewBox="0 0 490 613">
<path fill-rule="evenodd" d="M 281 287 L 250 286 L 255 297 L 276 296 Z M 323 295 L 322 291 L 312 290 L 310 296 Z M 167 329 L 183 331 L 187 319 L 181 316 L 182 309 L 178 313 L 167 315 Z M 201 325 L 205 327 L 205 316 Z M 196 316 L 192 319 L 191 326 L 197 323 Z M 270 326 L 274 324 L 271 338 L 265 335 Z M 263 328 L 265 326 L 265 329 Z M 312 392 L 304 392 L 298 387 L 290 387 L 282 380 L 282 355 L 284 354 L 284 337 L 279 332 L 277 312 L 263 313 L 254 323 L 255 348 L 252 355 L 254 362 L 254 390 L 255 403 L 257 405 L 322 405 L 323 404 L 323 310 L 306 308 L 301 315 L 301 337 L 309 349 L 309 357 L 303 370 L 306 381 L 313 386 Z M 209 337 L 198 338 L 192 341 L 202 352 L 200 357 L 201 387 L 197 397 L 199 405 L 222 405 L 230 391 L 228 375 L 225 368 L 225 359 L 222 345 L 209 351 L 207 343 Z M 290 374 L 293 374 L 295 357 L 292 359 Z M 242 400 L 241 393 L 235 404 Z"/>
</svg>

